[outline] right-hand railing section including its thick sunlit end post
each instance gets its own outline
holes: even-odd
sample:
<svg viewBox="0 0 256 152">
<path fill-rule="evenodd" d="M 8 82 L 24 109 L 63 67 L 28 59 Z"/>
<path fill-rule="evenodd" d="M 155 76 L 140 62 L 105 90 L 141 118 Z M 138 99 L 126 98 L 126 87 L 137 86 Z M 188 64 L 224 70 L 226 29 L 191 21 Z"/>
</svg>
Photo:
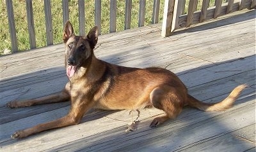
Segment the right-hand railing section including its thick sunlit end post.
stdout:
<svg viewBox="0 0 256 152">
<path fill-rule="evenodd" d="M 198 0 L 189 0 L 188 13 L 184 14 L 185 3 L 185 0 L 165 1 L 162 36 L 170 36 L 176 29 L 189 27 L 227 13 L 255 8 L 255 0 L 226 0 L 225 3 L 216 0 L 212 7 L 209 7 L 210 0 L 203 0 L 201 9 L 196 11 Z"/>
</svg>

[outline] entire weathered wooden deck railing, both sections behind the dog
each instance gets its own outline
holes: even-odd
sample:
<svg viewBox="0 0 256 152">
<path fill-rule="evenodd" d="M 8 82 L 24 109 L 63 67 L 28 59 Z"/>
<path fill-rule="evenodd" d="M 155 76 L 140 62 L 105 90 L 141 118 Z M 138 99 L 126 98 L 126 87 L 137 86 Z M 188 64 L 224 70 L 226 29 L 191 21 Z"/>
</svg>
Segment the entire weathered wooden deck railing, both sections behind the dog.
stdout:
<svg viewBox="0 0 256 152">
<path fill-rule="evenodd" d="M 153 0 L 152 0 L 153 1 Z M 231 13 L 233 11 L 242 10 L 243 8 L 255 8 L 255 0 L 228 0 L 227 3 L 222 3 L 221 0 L 215 1 L 215 6 L 209 8 L 210 0 L 202 1 L 202 8 L 200 11 L 196 11 L 198 7 L 198 0 L 187 0 L 188 13 L 185 12 L 186 0 L 154 0 L 152 6 L 152 24 L 156 24 L 159 21 L 159 8 L 160 2 L 164 1 L 164 15 L 163 15 L 163 27 L 162 36 L 170 36 L 175 29 L 182 27 L 189 27 L 192 24 L 198 22 L 204 22 L 211 18 L 217 18 L 221 15 Z M 63 24 L 69 19 L 68 0 L 62 1 L 63 10 Z M 79 34 L 85 34 L 85 14 L 84 14 L 84 0 L 78 0 L 78 15 L 79 15 Z M 145 6 L 146 0 L 140 0 L 138 27 L 141 27 L 145 23 Z M 10 31 L 10 39 L 12 43 L 12 53 L 18 52 L 18 43 L 15 28 L 15 19 L 13 17 L 13 4 L 12 0 L 6 0 L 6 9 L 8 12 L 8 25 Z M 95 0 L 95 25 L 99 27 L 99 33 L 101 29 L 101 0 Z M 125 0 L 125 18 L 124 18 L 124 30 L 131 28 L 131 10 L 132 0 Z M 116 0 L 110 1 L 110 16 L 109 16 L 109 32 L 116 31 Z M 28 33 L 29 33 L 29 45 L 30 48 L 36 48 L 35 38 L 35 25 L 33 18 L 33 6 L 32 0 L 26 0 L 26 15 L 28 20 Z M 51 13 L 51 0 L 44 0 L 44 15 L 45 15 L 45 29 L 47 46 L 53 44 L 52 36 L 52 13 Z"/>
</svg>

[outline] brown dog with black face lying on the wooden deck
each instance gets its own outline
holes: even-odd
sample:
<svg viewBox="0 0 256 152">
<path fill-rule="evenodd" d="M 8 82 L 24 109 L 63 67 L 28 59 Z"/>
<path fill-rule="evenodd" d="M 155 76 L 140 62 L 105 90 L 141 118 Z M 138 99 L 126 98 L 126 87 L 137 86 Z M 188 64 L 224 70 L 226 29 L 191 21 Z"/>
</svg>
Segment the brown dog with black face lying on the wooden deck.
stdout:
<svg viewBox="0 0 256 152">
<path fill-rule="evenodd" d="M 67 21 L 63 31 L 65 67 L 69 81 L 57 95 L 38 99 L 12 101 L 7 106 L 26 107 L 70 100 L 70 111 L 57 120 L 19 130 L 11 137 L 19 139 L 52 128 L 76 125 L 89 109 L 121 110 L 156 107 L 165 112 L 154 118 L 150 127 L 176 118 L 182 107 L 191 106 L 202 111 L 224 111 L 232 106 L 246 85 L 239 85 L 228 97 L 216 104 L 200 102 L 188 94 L 186 86 L 171 71 L 159 67 L 146 69 L 116 66 L 95 57 L 93 50 L 98 41 L 98 28 L 87 36 L 76 36 Z"/>
</svg>

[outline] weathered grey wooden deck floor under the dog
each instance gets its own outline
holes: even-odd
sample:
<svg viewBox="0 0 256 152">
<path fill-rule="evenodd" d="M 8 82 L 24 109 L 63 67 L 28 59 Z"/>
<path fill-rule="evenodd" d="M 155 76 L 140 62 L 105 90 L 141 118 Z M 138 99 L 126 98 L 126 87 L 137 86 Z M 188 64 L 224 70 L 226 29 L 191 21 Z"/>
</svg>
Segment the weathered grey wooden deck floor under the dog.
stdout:
<svg viewBox="0 0 256 152">
<path fill-rule="evenodd" d="M 243 10 L 161 37 L 161 25 L 99 37 L 99 59 L 130 67 L 164 67 L 204 102 L 249 85 L 234 107 L 206 113 L 185 107 L 176 120 L 148 127 L 162 111 L 143 109 L 126 133 L 129 111 L 91 111 L 79 125 L 13 140 L 15 130 L 60 118 L 69 102 L 8 109 L 6 102 L 60 92 L 67 76 L 63 45 L 0 57 L 0 151 L 255 151 L 255 10 Z M 133 113 L 133 119 L 136 112 Z"/>
</svg>

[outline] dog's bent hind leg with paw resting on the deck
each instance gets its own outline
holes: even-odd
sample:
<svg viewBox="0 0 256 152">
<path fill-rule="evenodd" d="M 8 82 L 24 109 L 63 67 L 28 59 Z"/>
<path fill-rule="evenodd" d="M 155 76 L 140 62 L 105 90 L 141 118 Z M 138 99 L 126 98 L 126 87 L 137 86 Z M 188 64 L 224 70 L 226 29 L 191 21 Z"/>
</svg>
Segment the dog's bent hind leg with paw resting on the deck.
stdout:
<svg viewBox="0 0 256 152">
<path fill-rule="evenodd" d="M 157 109 L 165 112 L 164 116 L 154 118 L 150 127 L 157 127 L 168 119 L 176 118 L 183 107 L 183 100 L 180 94 L 172 86 L 159 86 L 150 93 L 150 101 Z"/>
</svg>

